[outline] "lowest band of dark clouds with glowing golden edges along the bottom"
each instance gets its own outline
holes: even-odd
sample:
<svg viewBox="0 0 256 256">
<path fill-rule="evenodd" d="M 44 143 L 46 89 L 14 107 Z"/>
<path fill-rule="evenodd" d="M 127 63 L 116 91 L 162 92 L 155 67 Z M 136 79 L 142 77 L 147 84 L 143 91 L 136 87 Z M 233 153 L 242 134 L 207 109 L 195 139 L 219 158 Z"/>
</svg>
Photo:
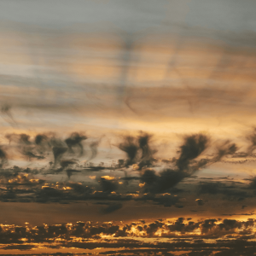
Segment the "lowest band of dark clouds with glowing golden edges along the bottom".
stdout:
<svg viewBox="0 0 256 256">
<path fill-rule="evenodd" d="M 180 253 L 181 250 L 188 251 L 189 254 L 186 255 L 210 255 L 209 253 L 212 252 L 218 252 L 218 255 L 229 255 L 227 253 L 231 250 L 230 255 L 253 255 L 254 224 L 253 218 L 248 218 L 246 221 L 229 218 L 223 220 L 205 218 L 191 221 L 183 217 L 174 221 L 158 219 L 148 223 L 133 221 L 126 224 L 91 221 L 38 226 L 2 224 L 0 248 L 29 250 L 42 246 L 89 249 L 121 247 L 119 253 L 126 252 L 131 255 L 137 255 L 140 252 Z M 145 248 L 148 251 L 143 251 Z M 233 251 L 230 248 L 236 248 L 236 250 Z M 105 251 L 105 254 L 109 253 L 111 252 Z"/>
</svg>

